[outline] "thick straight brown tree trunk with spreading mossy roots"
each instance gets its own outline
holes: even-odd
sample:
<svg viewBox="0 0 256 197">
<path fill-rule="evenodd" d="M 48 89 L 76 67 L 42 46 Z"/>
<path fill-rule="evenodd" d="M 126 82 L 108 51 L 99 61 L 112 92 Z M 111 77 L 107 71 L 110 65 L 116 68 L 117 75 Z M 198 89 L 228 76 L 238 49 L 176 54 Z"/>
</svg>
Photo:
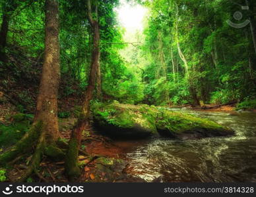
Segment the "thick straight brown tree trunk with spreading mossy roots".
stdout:
<svg viewBox="0 0 256 197">
<path fill-rule="evenodd" d="M 46 0 L 45 58 L 40 81 L 38 102 L 34 122 L 30 131 L 9 151 L 0 155 L 0 165 L 13 160 L 18 154 L 26 153 L 34 145 L 36 149 L 26 173 L 17 181 L 24 181 L 30 173 L 37 172 L 42 153 L 63 158 L 56 147 L 59 138 L 57 121 L 57 92 L 59 86 L 59 9 L 58 0 Z"/>
</svg>

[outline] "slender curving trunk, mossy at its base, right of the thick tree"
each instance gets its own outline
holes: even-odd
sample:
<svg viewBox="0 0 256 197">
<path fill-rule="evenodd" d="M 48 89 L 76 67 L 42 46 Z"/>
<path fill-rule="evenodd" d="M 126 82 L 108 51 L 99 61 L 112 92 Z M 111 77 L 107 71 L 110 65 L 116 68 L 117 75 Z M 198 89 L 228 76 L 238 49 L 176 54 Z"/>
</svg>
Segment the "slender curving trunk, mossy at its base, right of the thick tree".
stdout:
<svg viewBox="0 0 256 197">
<path fill-rule="evenodd" d="M 90 65 L 90 76 L 84 95 L 82 110 L 80 112 L 79 120 L 73 128 L 71 139 L 69 141 L 69 150 L 65 159 L 65 172 L 71 181 L 80 175 L 80 169 L 78 165 L 80 141 L 82 137 L 82 131 L 84 131 L 86 125 L 88 125 L 90 121 L 90 100 L 93 98 L 96 74 L 100 64 L 100 29 L 98 24 L 98 8 L 97 5 L 95 5 L 95 13 L 92 13 L 91 1 L 88 0 L 87 3 L 88 20 L 93 32 L 92 62 Z M 96 16 L 96 19 L 94 19 L 92 15 Z"/>
</svg>

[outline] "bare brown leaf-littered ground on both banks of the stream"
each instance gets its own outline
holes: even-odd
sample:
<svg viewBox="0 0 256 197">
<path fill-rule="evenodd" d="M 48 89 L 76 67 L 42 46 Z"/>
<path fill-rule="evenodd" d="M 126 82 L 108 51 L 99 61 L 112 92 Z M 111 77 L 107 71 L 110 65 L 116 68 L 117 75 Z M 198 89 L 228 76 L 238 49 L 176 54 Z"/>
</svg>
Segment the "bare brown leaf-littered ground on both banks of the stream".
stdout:
<svg viewBox="0 0 256 197">
<path fill-rule="evenodd" d="M 20 91 L 12 91 L 12 95 L 22 95 L 24 89 Z M 5 95 L 0 92 L 0 125 L 9 125 L 13 122 L 13 115 L 20 112 L 20 108 L 15 103 L 10 102 L 11 95 Z M 79 106 L 80 100 L 75 99 L 77 96 L 71 95 L 65 99 L 59 100 L 59 111 L 69 112 L 69 118 L 59 118 L 59 131 L 66 141 L 69 141 L 71 129 L 75 124 L 77 118 L 75 118 L 75 108 Z M 36 95 L 32 98 L 36 99 Z M 15 99 L 15 97 L 13 97 Z M 20 98 L 22 99 L 22 98 Z M 23 100 L 24 107 L 33 103 L 34 99 Z M 35 102 L 34 102 L 35 103 Z M 30 105 L 31 106 L 31 105 Z M 180 107 L 180 106 L 179 106 Z M 191 108 L 191 110 L 206 110 L 210 112 L 232 112 L 236 110 L 236 104 L 216 106 L 214 104 L 208 104 L 206 109 L 203 108 Z M 23 110 L 23 108 L 21 108 Z M 256 112 L 256 110 L 254 110 Z M 24 113 L 32 114 L 33 112 L 26 109 Z M 63 114 L 62 114 L 63 115 Z M 65 115 L 65 113 L 64 113 Z M 1 131 L 0 131 L 1 135 Z M 112 139 L 104 137 L 98 134 L 93 127 L 86 128 L 86 132 L 82 137 L 81 148 L 88 155 L 80 154 L 80 164 L 86 164 L 82 167 L 82 175 L 79 182 L 144 182 L 143 179 L 129 175 L 126 171 L 126 167 L 129 165 L 129 161 L 123 157 L 125 152 L 125 146 L 121 144 L 117 145 Z M 0 147 L 0 153 L 5 151 L 7 146 Z M 30 155 L 32 152 L 22 155 L 20 158 L 10 164 L 10 168 L 7 169 L 7 181 L 15 181 L 18 177 L 28 168 L 28 163 L 31 160 Z M 28 182 L 67 182 L 64 173 L 64 162 L 54 162 L 48 158 L 42 158 L 40 169 L 37 175 L 30 177 Z"/>
</svg>

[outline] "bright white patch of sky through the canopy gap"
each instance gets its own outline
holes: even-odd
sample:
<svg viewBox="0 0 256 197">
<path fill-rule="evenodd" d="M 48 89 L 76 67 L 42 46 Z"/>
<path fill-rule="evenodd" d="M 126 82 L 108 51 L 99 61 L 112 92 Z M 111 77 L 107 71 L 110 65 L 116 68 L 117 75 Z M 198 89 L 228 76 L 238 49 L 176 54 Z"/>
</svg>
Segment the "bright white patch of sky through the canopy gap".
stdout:
<svg viewBox="0 0 256 197">
<path fill-rule="evenodd" d="M 143 18 L 147 11 L 146 8 L 141 5 L 130 5 L 125 0 L 120 2 L 120 6 L 116 9 L 120 24 L 127 32 L 143 30 Z"/>
</svg>

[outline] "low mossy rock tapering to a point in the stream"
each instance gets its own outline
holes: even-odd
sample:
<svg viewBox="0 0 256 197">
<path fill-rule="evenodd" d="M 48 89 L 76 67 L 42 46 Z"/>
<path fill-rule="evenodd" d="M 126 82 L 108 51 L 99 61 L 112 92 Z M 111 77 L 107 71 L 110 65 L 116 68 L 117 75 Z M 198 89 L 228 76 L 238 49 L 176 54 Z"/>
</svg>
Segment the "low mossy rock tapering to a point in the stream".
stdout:
<svg viewBox="0 0 256 197">
<path fill-rule="evenodd" d="M 176 139 L 201 139 L 234 135 L 232 129 L 214 121 L 170 110 L 159 110 L 156 127 L 160 135 Z"/>
</svg>

